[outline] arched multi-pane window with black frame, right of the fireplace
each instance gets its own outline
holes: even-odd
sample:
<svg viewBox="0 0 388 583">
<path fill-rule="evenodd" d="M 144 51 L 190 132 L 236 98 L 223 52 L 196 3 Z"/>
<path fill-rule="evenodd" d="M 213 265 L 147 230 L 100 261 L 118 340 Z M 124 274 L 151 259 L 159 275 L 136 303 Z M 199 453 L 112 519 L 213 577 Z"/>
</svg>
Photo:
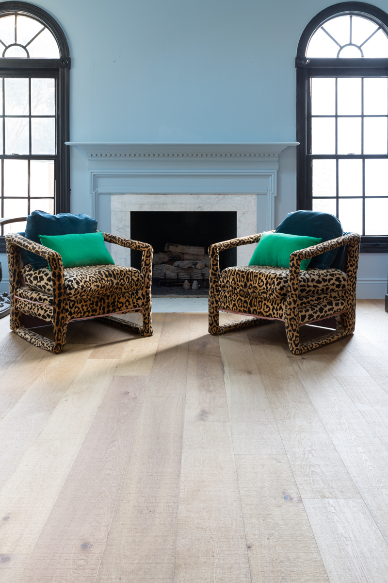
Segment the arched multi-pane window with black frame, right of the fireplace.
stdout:
<svg viewBox="0 0 388 583">
<path fill-rule="evenodd" d="M 388 251 L 388 15 L 363 2 L 322 10 L 296 68 L 298 209 L 336 215 L 361 251 Z"/>
</svg>

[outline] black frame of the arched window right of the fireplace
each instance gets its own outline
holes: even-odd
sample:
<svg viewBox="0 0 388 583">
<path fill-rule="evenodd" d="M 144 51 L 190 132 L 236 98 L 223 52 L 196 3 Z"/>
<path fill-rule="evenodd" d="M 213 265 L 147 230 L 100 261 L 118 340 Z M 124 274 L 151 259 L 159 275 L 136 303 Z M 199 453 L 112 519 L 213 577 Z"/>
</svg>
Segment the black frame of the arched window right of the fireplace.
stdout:
<svg viewBox="0 0 388 583">
<path fill-rule="evenodd" d="M 314 154 L 307 152 L 311 143 L 311 128 L 308 118 L 310 80 L 314 77 L 388 77 L 388 58 L 307 58 L 306 50 L 312 34 L 330 18 L 344 15 L 365 16 L 372 20 L 388 36 L 388 14 L 376 6 L 365 2 L 341 2 L 319 12 L 305 27 L 298 44 L 295 66 L 297 72 L 297 209 L 312 210 L 312 167 Z M 325 158 L 325 156 L 316 156 Z M 332 156 L 327 156 L 332 158 Z M 341 155 L 340 159 L 355 159 L 361 156 Z M 362 156 L 364 157 L 364 156 Z M 388 159 L 388 153 L 371 158 Z M 360 251 L 363 253 L 388 252 L 387 236 L 362 236 Z"/>
</svg>

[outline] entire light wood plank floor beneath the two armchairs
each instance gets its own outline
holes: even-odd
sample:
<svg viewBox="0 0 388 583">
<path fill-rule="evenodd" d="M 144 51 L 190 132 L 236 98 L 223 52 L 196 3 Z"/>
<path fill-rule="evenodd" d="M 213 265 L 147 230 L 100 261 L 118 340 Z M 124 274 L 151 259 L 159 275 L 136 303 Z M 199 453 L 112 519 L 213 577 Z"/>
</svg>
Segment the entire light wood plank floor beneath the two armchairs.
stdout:
<svg viewBox="0 0 388 583">
<path fill-rule="evenodd" d="M 153 321 L 58 356 L 0 321 L 0 583 L 387 583 L 383 301 L 300 357 L 279 322 Z"/>
</svg>

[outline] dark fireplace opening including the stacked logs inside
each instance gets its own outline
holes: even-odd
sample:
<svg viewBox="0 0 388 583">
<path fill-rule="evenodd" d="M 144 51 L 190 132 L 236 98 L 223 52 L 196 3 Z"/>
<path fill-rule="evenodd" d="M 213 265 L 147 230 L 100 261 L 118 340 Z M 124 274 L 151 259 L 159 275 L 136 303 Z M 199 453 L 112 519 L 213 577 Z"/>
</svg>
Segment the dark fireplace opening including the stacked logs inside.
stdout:
<svg viewBox="0 0 388 583">
<path fill-rule="evenodd" d="M 154 248 L 154 295 L 207 294 L 208 247 L 236 236 L 235 211 L 131 212 L 131 239 L 144 241 Z M 222 251 L 219 257 L 220 269 L 236 265 L 237 249 Z M 140 251 L 131 250 L 131 266 L 141 269 Z"/>
</svg>

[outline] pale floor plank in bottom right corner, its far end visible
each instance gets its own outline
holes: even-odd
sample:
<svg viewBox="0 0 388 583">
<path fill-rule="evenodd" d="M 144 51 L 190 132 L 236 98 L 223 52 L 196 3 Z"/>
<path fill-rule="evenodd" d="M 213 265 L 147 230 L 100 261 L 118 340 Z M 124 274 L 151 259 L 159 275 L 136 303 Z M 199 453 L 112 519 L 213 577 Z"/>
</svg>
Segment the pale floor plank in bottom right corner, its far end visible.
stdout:
<svg viewBox="0 0 388 583">
<path fill-rule="evenodd" d="M 362 500 L 304 500 L 330 583 L 384 583 L 388 546 Z"/>
</svg>

